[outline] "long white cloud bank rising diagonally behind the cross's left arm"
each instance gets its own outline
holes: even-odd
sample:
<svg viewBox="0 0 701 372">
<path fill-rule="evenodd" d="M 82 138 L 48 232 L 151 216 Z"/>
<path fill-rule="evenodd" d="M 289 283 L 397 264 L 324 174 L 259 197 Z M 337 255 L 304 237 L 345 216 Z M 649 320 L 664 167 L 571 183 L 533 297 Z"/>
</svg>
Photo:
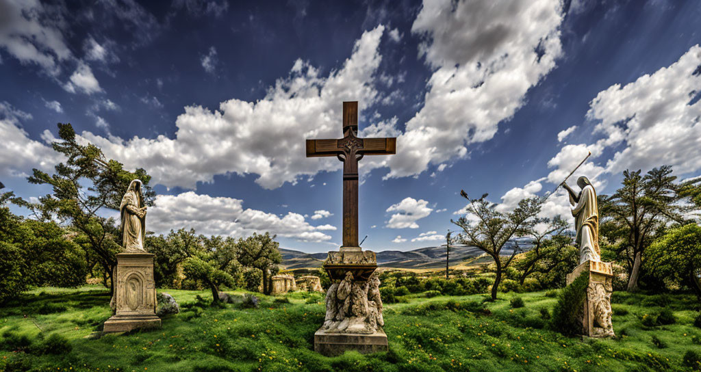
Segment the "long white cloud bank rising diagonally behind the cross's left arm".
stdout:
<svg viewBox="0 0 701 372">
<path fill-rule="evenodd" d="M 128 169 L 143 167 L 154 183 L 168 188 L 193 189 L 198 181 L 230 173 L 258 174 L 256 182 L 268 189 L 296 184 L 300 176 L 337 169 L 335 158 L 307 159 L 304 140 L 339 137 L 341 102 L 379 101 L 374 76 L 383 31 L 378 26 L 363 33 L 351 57 L 328 76 L 320 76 L 308 62 L 297 62 L 256 102 L 229 99 L 214 111 L 186 106 L 175 122 L 175 138 L 121 140 L 91 132 L 82 137 Z"/>
</svg>

